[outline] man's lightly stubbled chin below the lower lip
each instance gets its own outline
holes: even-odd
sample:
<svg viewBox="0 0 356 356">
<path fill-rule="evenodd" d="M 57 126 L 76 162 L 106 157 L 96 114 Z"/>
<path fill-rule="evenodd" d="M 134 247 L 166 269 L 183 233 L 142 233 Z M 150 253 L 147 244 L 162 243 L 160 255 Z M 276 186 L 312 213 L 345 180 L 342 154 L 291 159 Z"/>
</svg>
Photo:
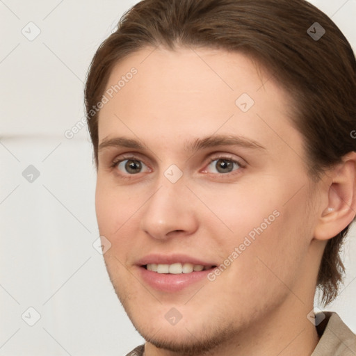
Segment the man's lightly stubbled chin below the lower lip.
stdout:
<svg viewBox="0 0 356 356">
<path fill-rule="evenodd" d="M 173 320 L 170 323 L 171 314 L 166 316 L 165 311 L 174 308 L 172 306 L 164 303 L 156 307 L 136 305 L 127 299 L 126 302 L 129 304 L 123 306 L 131 323 L 138 333 L 156 348 L 186 356 L 201 355 L 236 336 L 236 323 L 229 324 L 226 318 L 212 315 L 210 308 L 204 312 L 197 306 L 182 305 L 181 312 L 184 316 L 177 323 L 173 323 Z"/>
</svg>

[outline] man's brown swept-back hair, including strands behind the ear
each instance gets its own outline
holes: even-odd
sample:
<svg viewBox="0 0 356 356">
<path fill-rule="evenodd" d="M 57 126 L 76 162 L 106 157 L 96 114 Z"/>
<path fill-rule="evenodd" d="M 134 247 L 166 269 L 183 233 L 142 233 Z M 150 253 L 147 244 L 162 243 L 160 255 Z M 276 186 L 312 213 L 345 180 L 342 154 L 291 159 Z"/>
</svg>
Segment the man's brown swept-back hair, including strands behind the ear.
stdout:
<svg viewBox="0 0 356 356">
<path fill-rule="evenodd" d="M 319 40 L 307 30 L 318 22 Z M 97 49 L 86 81 L 88 127 L 97 166 L 99 111 L 108 77 L 120 60 L 144 47 L 239 51 L 264 67 L 293 98 L 292 124 L 305 140 L 313 179 L 356 151 L 356 61 L 350 44 L 324 13 L 305 0 L 143 0 L 125 13 Z M 350 225 L 327 242 L 318 273 L 326 305 L 344 266 L 339 251 Z"/>
</svg>

